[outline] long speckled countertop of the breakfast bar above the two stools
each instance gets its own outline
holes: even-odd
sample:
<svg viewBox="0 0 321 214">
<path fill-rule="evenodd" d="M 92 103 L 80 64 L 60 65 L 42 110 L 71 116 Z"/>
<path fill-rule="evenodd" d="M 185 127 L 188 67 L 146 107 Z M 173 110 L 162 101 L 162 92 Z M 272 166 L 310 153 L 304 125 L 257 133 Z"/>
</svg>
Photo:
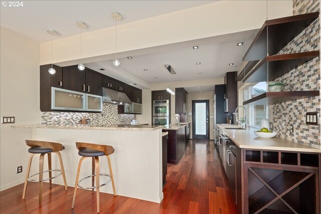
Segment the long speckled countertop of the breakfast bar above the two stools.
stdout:
<svg viewBox="0 0 321 214">
<path fill-rule="evenodd" d="M 163 126 L 154 125 L 41 125 L 41 124 L 17 124 L 12 125 L 14 128 L 61 128 L 61 129 L 102 129 L 102 130 L 136 130 L 136 131 L 151 131 L 162 129 Z"/>
</svg>

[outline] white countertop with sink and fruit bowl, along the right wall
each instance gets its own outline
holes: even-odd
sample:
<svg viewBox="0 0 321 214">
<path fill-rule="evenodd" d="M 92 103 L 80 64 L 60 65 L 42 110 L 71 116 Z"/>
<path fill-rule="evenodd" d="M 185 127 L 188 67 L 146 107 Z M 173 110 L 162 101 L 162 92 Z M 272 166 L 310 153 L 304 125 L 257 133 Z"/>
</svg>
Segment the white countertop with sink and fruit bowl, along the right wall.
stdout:
<svg viewBox="0 0 321 214">
<path fill-rule="evenodd" d="M 239 130 L 239 129 L 225 129 L 224 127 L 237 127 L 237 125 L 217 124 L 223 132 L 240 148 L 248 149 L 267 149 L 267 150 L 283 150 L 296 152 L 318 152 L 321 149 L 302 145 L 290 140 L 273 137 L 261 138 L 254 134 L 256 129 Z"/>
</svg>

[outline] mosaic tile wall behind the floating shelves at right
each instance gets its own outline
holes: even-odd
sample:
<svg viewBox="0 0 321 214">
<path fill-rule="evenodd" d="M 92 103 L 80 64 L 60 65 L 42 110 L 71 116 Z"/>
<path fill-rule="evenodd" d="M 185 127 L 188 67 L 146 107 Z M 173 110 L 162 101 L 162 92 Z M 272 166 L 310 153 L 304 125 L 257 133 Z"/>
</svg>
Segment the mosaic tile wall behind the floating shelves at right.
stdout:
<svg viewBox="0 0 321 214">
<path fill-rule="evenodd" d="M 319 1 L 293 1 L 293 15 L 319 11 Z M 316 51 L 320 49 L 320 22 L 316 19 L 278 54 Z M 284 83 L 283 91 L 320 90 L 320 57 L 293 69 L 274 82 Z M 274 131 L 280 138 L 320 148 L 320 125 L 305 124 L 305 113 L 320 113 L 320 96 L 273 105 Z M 320 118 L 319 118 L 320 119 Z M 293 124 L 293 133 L 289 127 Z"/>
</svg>

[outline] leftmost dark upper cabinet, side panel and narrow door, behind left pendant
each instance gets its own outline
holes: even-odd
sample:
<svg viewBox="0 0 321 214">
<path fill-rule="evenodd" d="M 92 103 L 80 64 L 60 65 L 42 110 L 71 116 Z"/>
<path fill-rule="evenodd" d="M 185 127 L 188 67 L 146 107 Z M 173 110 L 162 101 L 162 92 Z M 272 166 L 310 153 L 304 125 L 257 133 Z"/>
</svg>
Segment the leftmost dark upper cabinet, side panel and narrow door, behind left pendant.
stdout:
<svg viewBox="0 0 321 214">
<path fill-rule="evenodd" d="M 62 88 L 63 87 L 63 74 L 62 68 L 53 65 L 56 70 L 55 74 L 49 74 L 49 65 L 40 66 L 40 110 L 51 110 L 51 87 Z"/>
</svg>

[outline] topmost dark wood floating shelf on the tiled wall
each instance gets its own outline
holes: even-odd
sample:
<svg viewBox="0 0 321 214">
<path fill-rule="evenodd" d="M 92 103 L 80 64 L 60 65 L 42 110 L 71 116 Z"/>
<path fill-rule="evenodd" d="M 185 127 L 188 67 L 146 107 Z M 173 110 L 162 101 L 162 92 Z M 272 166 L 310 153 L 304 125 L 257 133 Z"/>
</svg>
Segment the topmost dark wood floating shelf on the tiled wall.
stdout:
<svg viewBox="0 0 321 214">
<path fill-rule="evenodd" d="M 319 16 L 318 12 L 267 20 L 245 53 L 243 61 L 277 54 Z"/>
</svg>

